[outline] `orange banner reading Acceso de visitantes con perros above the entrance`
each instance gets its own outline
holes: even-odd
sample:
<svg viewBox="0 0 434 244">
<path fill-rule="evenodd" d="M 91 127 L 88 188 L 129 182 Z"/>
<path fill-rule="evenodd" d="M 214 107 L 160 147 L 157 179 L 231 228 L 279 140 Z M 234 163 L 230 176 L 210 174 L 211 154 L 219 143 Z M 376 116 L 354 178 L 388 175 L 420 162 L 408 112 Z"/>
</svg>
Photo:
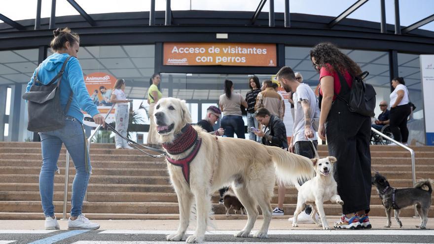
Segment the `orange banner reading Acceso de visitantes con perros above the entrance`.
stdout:
<svg viewBox="0 0 434 244">
<path fill-rule="evenodd" d="M 276 44 L 165 42 L 164 65 L 276 67 Z"/>
</svg>

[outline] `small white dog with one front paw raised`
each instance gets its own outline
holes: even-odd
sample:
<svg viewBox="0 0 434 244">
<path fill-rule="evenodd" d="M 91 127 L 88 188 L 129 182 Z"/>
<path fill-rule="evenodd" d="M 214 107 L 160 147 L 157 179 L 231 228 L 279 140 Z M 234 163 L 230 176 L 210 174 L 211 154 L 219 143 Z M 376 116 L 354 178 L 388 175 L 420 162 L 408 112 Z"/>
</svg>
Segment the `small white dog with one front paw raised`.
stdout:
<svg viewBox="0 0 434 244">
<path fill-rule="evenodd" d="M 335 157 L 326 157 L 322 159 L 311 159 L 315 165 L 316 176 L 303 185 L 295 184 L 298 190 L 297 208 L 294 212 L 292 221 L 293 227 L 298 227 L 297 217 L 303 211 L 305 204 L 312 205 L 312 212 L 310 216 L 318 226 L 323 226 L 323 229 L 329 230 L 324 212 L 324 202 L 330 201 L 336 204 L 343 205 L 344 202 L 341 197 L 337 195 L 337 184 L 333 178 L 333 164 L 336 162 Z M 315 208 L 316 207 L 316 208 Z M 318 211 L 321 217 L 321 223 L 315 218 Z"/>
</svg>

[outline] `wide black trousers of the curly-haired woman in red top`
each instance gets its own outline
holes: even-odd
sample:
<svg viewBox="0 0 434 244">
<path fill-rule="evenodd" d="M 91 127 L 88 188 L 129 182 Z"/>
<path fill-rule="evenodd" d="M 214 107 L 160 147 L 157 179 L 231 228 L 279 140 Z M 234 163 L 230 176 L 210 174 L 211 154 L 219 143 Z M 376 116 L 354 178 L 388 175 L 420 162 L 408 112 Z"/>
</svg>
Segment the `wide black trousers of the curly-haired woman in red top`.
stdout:
<svg viewBox="0 0 434 244">
<path fill-rule="evenodd" d="M 325 134 L 328 153 L 337 159 L 334 178 L 344 201 L 342 213 L 369 212 L 371 199 L 371 118 L 350 112 L 336 99 L 330 109 Z"/>
</svg>

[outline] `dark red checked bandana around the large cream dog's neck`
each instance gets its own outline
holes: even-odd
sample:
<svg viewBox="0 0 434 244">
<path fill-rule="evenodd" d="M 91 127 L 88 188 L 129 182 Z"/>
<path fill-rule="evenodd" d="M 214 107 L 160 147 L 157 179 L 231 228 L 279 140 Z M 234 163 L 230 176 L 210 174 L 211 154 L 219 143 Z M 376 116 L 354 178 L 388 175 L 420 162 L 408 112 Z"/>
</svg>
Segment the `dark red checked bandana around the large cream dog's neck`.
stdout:
<svg viewBox="0 0 434 244">
<path fill-rule="evenodd" d="M 172 142 L 164 142 L 162 146 L 169 154 L 177 155 L 191 148 L 197 140 L 197 131 L 186 124 Z"/>
</svg>

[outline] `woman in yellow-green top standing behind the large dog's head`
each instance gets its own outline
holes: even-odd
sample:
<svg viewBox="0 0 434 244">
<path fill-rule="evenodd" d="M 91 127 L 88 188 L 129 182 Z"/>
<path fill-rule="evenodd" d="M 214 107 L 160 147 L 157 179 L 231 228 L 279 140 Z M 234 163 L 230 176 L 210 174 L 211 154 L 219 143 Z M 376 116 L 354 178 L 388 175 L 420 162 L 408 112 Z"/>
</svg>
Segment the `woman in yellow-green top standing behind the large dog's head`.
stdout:
<svg viewBox="0 0 434 244">
<path fill-rule="evenodd" d="M 155 129 L 154 122 L 154 108 L 158 100 L 161 99 L 161 92 L 158 90 L 158 84 L 160 84 L 160 74 L 154 73 L 149 79 L 149 89 L 147 102 L 149 104 L 149 132 L 147 134 L 147 144 L 151 147 L 160 148 L 161 145 L 157 142 L 157 130 Z"/>
</svg>

